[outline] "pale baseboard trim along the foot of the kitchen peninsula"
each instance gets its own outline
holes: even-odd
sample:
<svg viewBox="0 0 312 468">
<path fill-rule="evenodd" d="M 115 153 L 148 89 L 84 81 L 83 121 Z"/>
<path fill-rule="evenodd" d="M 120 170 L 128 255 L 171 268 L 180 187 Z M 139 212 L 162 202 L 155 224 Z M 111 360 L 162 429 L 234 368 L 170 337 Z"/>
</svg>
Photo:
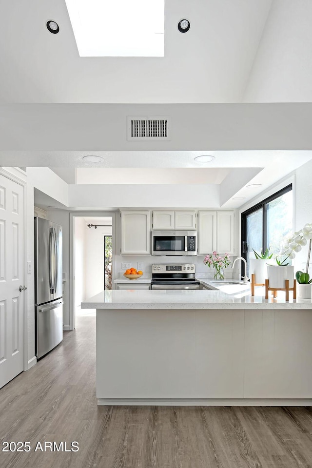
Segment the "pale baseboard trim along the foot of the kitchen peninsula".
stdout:
<svg viewBox="0 0 312 468">
<path fill-rule="evenodd" d="M 312 406 L 303 398 L 98 398 L 98 406 Z"/>
</svg>

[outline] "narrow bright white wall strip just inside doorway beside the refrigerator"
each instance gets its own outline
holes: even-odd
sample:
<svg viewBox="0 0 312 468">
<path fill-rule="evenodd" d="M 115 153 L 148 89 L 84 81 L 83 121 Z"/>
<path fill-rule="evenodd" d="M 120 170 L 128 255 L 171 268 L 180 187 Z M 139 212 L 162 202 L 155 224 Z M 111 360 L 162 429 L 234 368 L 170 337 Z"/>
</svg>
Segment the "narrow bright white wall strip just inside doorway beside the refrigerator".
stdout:
<svg viewBox="0 0 312 468">
<path fill-rule="evenodd" d="M 86 259 L 86 222 L 82 217 L 75 218 L 75 307 L 86 298 L 85 259 Z"/>
</svg>

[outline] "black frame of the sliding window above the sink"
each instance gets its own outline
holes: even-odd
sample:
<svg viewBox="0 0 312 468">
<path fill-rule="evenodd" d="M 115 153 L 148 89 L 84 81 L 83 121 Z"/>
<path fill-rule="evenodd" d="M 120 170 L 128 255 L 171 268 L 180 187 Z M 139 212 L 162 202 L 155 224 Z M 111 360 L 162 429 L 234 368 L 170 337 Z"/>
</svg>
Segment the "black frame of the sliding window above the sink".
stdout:
<svg viewBox="0 0 312 468">
<path fill-rule="evenodd" d="M 265 205 L 270 203 L 271 201 L 279 198 L 280 196 L 287 194 L 288 192 L 292 191 L 292 183 L 288 184 L 286 187 L 278 190 L 273 195 L 270 195 L 260 202 L 256 203 L 252 207 L 248 208 L 241 214 L 241 256 L 245 258 L 248 262 L 248 255 L 246 251 L 246 244 L 247 244 L 247 216 L 251 215 L 255 211 L 262 209 L 262 252 L 264 252 L 267 248 L 267 211 L 265 210 Z"/>
</svg>

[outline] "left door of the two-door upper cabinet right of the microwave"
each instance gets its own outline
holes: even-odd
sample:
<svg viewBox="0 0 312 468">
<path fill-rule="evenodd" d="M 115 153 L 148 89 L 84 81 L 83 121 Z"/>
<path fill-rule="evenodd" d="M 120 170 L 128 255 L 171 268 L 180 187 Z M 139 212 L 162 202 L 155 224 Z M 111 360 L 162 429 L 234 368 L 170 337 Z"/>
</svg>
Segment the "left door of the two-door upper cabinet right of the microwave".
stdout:
<svg viewBox="0 0 312 468">
<path fill-rule="evenodd" d="M 216 213 L 198 212 L 198 254 L 212 254 L 216 250 Z"/>
</svg>

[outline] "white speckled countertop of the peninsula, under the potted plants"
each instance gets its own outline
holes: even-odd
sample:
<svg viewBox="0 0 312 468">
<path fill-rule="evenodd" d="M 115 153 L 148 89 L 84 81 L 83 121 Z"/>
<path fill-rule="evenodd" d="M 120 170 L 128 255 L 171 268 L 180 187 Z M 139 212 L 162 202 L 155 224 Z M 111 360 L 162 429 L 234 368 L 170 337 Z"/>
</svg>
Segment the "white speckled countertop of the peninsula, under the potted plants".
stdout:
<svg viewBox="0 0 312 468">
<path fill-rule="evenodd" d="M 81 309 L 311 309 L 308 299 L 285 302 L 285 297 L 266 300 L 250 291 L 103 291 L 81 303 Z"/>
</svg>

